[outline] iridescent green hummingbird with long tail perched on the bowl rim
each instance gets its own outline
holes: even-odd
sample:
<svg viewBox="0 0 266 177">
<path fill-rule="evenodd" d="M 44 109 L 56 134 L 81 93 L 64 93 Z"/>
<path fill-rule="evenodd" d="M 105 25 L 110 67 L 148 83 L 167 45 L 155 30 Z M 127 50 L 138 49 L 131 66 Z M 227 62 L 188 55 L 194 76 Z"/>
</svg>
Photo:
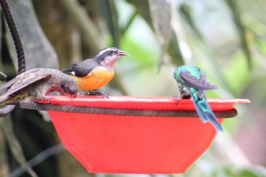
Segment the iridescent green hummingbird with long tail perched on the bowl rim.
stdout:
<svg viewBox="0 0 266 177">
<path fill-rule="evenodd" d="M 206 90 L 217 89 L 217 86 L 207 82 L 206 74 L 197 66 L 182 65 L 174 70 L 174 78 L 177 81 L 180 99 L 192 97 L 196 111 L 203 123 L 211 122 L 217 131 L 223 131 L 215 114 L 210 109 L 206 100 Z"/>
</svg>

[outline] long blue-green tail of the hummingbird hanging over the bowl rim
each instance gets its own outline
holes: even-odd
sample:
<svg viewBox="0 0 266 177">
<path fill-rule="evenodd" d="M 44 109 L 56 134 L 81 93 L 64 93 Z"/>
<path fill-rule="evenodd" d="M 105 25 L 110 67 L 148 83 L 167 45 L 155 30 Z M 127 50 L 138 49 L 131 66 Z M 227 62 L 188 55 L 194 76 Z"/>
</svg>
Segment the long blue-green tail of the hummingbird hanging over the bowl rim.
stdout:
<svg viewBox="0 0 266 177">
<path fill-rule="evenodd" d="M 190 94 L 193 98 L 193 102 L 200 119 L 204 123 L 210 121 L 217 131 L 223 131 L 223 128 L 217 121 L 215 114 L 211 111 L 206 97 L 204 96 L 203 98 L 199 98 L 197 96 L 197 92 L 198 91 L 196 89 L 190 88 Z"/>
</svg>

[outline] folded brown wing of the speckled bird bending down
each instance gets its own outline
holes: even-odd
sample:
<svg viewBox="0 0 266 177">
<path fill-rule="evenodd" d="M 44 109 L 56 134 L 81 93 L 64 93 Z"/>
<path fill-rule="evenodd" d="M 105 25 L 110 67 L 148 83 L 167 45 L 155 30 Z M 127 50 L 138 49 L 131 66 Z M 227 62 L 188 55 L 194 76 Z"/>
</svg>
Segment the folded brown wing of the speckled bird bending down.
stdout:
<svg viewBox="0 0 266 177">
<path fill-rule="evenodd" d="M 3 96 L 7 96 L 10 94 L 13 94 L 27 86 L 29 86 L 30 84 L 36 83 L 37 81 L 43 80 L 43 79 L 48 79 L 51 77 L 50 73 L 47 72 L 35 72 L 35 73 L 29 73 L 27 75 L 25 75 L 22 78 L 19 78 L 19 80 L 17 80 L 11 87 L 10 89 L 8 89 L 7 92 L 4 93 Z M 16 78 L 14 78 L 16 79 Z M 1 96 L 2 97 L 2 96 Z"/>
</svg>

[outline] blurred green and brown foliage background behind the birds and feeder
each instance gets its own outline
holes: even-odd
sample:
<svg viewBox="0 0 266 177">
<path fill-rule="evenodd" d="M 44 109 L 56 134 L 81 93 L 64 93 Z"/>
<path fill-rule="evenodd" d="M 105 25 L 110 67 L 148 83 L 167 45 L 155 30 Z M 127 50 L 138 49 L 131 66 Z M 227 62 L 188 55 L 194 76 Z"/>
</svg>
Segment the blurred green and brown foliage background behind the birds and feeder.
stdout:
<svg viewBox="0 0 266 177">
<path fill-rule="evenodd" d="M 130 53 L 101 91 L 175 96 L 173 70 L 197 65 L 219 87 L 207 97 L 247 98 L 223 123 L 210 149 L 184 174 L 266 176 L 265 0 L 10 0 L 26 69 L 64 69 L 115 46 Z M 17 58 L 1 20 L 0 70 L 13 78 Z M 137 176 L 89 174 L 60 144 L 45 112 L 16 108 L 0 119 L 0 176 Z M 22 168 L 23 167 L 23 168 Z"/>
</svg>

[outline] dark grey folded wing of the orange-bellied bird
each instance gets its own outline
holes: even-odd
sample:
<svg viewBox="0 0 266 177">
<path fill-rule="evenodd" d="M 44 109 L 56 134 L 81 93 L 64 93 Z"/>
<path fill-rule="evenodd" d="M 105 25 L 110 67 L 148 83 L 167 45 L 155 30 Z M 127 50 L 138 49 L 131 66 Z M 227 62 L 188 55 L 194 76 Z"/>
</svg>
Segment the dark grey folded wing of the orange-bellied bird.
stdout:
<svg viewBox="0 0 266 177">
<path fill-rule="evenodd" d="M 66 69 L 63 69 L 62 72 L 75 75 L 77 77 L 87 76 L 97 65 L 97 62 L 94 59 L 87 59 L 78 63 L 74 63 L 68 66 Z"/>
</svg>

